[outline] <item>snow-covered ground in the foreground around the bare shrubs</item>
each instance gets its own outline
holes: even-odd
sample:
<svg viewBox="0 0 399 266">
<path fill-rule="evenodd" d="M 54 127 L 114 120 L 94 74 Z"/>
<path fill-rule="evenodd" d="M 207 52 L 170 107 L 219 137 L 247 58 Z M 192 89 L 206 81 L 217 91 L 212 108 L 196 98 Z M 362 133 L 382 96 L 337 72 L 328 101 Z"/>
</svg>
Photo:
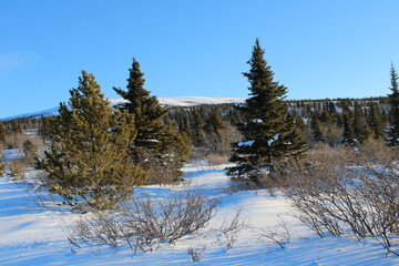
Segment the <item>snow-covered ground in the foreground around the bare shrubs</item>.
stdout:
<svg viewBox="0 0 399 266">
<path fill-rule="evenodd" d="M 398 256 L 387 256 L 374 241 L 319 238 L 290 215 L 289 202 L 284 195 L 272 197 L 265 191 L 234 190 L 225 175 L 225 166 L 204 162 L 187 164 L 186 182 L 140 188 L 160 198 L 176 191 L 201 188 L 219 204 L 206 228 L 213 234 L 163 244 L 156 252 L 135 256 L 127 247 L 103 247 L 93 253 L 72 246 L 66 237 L 82 214 L 59 206 L 39 207 L 27 193 L 27 184 L 0 177 L 0 265 L 399 265 Z M 237 208 L 243 209 L 242 218 L 248 226 L 238 233 L 233 248 L 227 249 L 215 228 L 233 217 Z M 290 234 L 285 248 L 260 235 L 262 229 L 284 232 L 278 226 L 283 221 Z M 205 247 L 200 262 L 192 260 L 188 247 Z"/>
</svg>

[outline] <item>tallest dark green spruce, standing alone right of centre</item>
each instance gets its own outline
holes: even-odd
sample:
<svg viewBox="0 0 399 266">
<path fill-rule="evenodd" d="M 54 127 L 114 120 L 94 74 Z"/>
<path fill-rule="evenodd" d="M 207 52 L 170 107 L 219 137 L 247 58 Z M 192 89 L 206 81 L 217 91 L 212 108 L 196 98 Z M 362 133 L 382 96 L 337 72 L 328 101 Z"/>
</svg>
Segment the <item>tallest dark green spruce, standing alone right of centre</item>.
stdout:
<svg viewBox="0 0 399 266">
<path fill-rule="evenodd" d="M 274 81 L 274 73 L 264 59 L 265 51 L 256 40 L 252 58 L 247 62 L 249 72 L 244 73 L 249 81 L 249 95 L 243 106 L 246 123 L 238 124 L 243 141 L 233 143 L 227 174 L 258 182 L 264 174 L 274 171 L 277 161 L 297 157 L 305 151 L 294 120 L 288 115 L 284 101 L 287 89 Z"/>
</svg>

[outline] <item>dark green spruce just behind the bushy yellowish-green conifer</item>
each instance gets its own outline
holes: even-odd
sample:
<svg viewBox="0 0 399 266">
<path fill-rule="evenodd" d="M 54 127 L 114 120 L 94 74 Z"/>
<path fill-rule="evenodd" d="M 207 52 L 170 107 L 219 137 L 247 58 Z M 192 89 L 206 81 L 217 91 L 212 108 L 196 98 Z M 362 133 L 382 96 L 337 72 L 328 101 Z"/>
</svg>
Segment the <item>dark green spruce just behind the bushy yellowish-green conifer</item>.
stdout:
<svg viewBox="0 0 399 266">
<path fill-rule="evenodd" d="M 137 136 L 130 146 L 134 162 L 146 171 L 150 171 L 152 163 L 165 166 L 171 163 L 181 167 L 187 157 L 182 156 L 181 150 L 186 147 L 178 132 L 171 130 L 163 122 L 168 111 L 161 106 L 156 96 L 151 96 L 151 92 L 144 89 L 144 73 L 141 72 L 140 63 L 135 59 L 133 59 L 129 72 L 126 91 L 117 88 L 114 90 L 126 100 L 121 109 L 134 115 Z M 165 149 L 166 143 L 168 144 L 167 149 Z M 162 172 L 155 173 L 155 175 L 160 175 Z M 180 174 L 180 168 L 176 168 L 175 177 Z"/>
</svg>

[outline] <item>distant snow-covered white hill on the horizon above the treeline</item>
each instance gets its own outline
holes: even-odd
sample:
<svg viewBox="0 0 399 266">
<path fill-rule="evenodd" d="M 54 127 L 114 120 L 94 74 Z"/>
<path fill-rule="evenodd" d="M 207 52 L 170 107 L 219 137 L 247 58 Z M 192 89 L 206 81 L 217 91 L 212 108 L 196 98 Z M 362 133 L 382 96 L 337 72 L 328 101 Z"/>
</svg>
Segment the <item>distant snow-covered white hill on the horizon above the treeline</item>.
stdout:
<svg viewBox="0 0 399 266">
<path fill-rule="evenodd" d="M 125 102 L 122 98 L 109 99 L 111 104 L 119 104 Z M 158 101 L 164 106 L 194 106 L 202 104 L 222 104 L 222 103 L 239 103 L 244 98 L 205 98 L 205 96 L 177 96 L 177 98 L 158 98 Z M 24 113 L 2 117 L 1 120 L 19 119 L 19 117 L 40 117 L 52 116 L 58 114 L 59 108 L 47 109 L 39 112 Z"/>
</svg>

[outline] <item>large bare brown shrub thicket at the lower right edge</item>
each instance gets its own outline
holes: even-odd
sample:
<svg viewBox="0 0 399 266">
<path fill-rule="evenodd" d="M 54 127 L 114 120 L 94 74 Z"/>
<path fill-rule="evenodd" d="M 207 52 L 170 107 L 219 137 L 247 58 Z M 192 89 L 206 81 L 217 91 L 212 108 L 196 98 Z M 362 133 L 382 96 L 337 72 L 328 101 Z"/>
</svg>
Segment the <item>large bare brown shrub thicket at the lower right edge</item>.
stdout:
<svg viewBox="0 0 399 266">
<path fill-rule="evenodd" d="M 398 150 L 371 142 L 358 152 L 319 147 L 310 167 L 293 174 L 289 197 L 297 217 L 320 237 L 347 229 L 376 238 L 387 250 L 398 244 Z M 398 253 L 396 253 L 398 255 Z"/>
</svg>

